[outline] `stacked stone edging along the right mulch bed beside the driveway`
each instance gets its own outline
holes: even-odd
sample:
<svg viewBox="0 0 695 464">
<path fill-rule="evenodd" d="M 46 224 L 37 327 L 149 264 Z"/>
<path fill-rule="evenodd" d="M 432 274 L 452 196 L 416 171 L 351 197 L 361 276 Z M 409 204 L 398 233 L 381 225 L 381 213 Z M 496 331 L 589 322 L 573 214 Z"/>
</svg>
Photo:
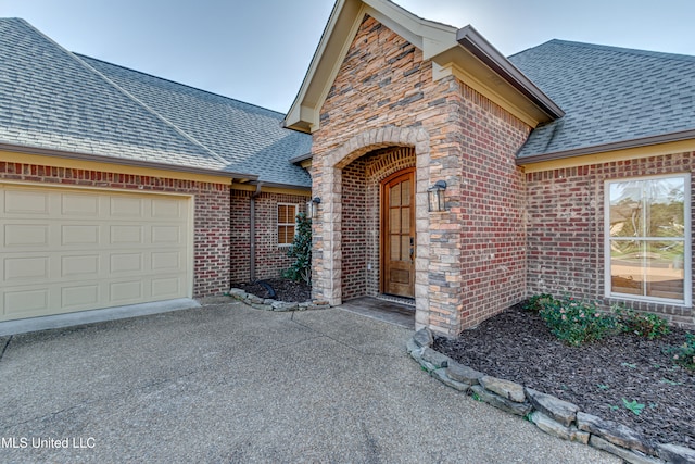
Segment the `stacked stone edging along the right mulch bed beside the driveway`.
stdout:
<svg viewBox="0 0 695 464">
<path fill-rule="evenodd" d="M 650 443 L 622 424 L 579 411 L 579 406 L 521 384 L 495 378 L 434 351 L 432 331 L 424 328 L 407 342 L 408 354 L 432 377 L 502 411 L 528 418 L 541 430 L 607 451 L 629 463 L 694 464 L 695 450 Z"/>
</svg>

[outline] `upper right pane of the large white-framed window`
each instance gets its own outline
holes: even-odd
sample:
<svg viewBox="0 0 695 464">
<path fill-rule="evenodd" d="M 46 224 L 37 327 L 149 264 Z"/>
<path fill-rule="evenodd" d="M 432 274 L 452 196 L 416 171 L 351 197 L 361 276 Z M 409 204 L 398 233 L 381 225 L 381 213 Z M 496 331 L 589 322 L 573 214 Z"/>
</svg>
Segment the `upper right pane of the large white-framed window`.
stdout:
<svg viewBox="0 0 695 464">
<path fill-rule="evenodd" d="M 646 183 L 646 236 L 683 237 L 685 234 L 684 179 L 654 179 Z"/>
</svg>

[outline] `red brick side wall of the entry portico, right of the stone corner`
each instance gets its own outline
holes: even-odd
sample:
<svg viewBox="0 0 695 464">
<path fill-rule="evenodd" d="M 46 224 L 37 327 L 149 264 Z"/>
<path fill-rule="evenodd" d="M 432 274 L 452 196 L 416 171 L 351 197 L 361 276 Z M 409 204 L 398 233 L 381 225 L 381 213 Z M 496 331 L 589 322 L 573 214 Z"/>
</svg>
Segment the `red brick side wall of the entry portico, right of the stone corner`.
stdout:
<svg viewBox="0 0 695 464">
<path fill-rule="evenodd" d="M 462 327 L 471 327 L 526 297 L 525 179 L 515 161 L 530 128 L 462 91 Z"/>
</svg>

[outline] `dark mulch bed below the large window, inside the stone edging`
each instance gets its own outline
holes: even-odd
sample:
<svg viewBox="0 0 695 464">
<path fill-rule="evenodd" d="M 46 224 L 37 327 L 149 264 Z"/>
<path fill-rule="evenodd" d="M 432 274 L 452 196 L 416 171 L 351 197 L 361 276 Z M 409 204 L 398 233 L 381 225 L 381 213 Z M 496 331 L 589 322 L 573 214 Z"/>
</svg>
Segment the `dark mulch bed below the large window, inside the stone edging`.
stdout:
<svg viewBox="0 0 695 464">
<path fill-rule="evenodd" d="M 695 373 L 662 352 L 682 344 L 677 328 L 658 340 L 618 335 L 580 348 L 558 341 L 541 317 L 519 306 L 434 349 L 494 377 L 513 380 L 624 424 L 647 439 L 695 448 Z M 640 415 L 622 402 L 645 405 Z"/>
</svg>

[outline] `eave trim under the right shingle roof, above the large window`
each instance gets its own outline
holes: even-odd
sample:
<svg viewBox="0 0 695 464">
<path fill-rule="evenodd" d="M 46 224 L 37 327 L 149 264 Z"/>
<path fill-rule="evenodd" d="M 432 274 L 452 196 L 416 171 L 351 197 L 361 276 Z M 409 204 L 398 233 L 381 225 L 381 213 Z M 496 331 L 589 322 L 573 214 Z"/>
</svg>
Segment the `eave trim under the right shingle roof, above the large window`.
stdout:
<svg viewBox="0 0 695 464">
<path fill-rule="evenodd" d="M 586 154 L 605 153 L 617 150 L 628 150 L 639 147 L 649 147 L 661 143 L 670 143 L 684 140 L 694 140 L 695 129 L 680 130 L 669 134 L 659 134 L 648 137 L 640 137 L 629 140 L 620 140 L 609 143 L 594 145 L 591 147 L 580 147 L 571 150 L 554 151 L 531 156 L 517 158 L 516 164 L 523 166 L 528 164 L 541 163 L 544 161 L 561 160 L 566 158 L 583 156 Z"/>
</svg>

